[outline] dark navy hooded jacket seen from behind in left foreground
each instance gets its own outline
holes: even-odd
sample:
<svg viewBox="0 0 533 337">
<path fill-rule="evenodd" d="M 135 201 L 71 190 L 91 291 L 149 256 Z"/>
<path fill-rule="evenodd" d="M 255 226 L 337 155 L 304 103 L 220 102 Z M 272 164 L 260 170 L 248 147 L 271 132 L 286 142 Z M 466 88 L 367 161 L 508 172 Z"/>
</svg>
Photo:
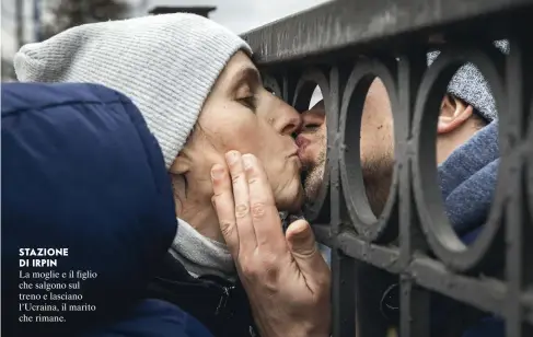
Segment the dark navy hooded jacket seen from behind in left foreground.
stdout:
<svg viewBox="0 0 533 337">
<path fill-rule="evenodd" d="M 161 150 L 136 106 L 93 84 L 5 83 L 1 91 L 2 336 L 210 336 L 178 306 L 146 300 L 177 225 Z M 47 257 L 20 248 L 68 248 L 68 256 L 35 267 Z M 47 282 L 66 287 L 53 293 L 83 299 L 19 298 L 42 295 L 20 283 L 43 283 L 33 272 L 49 270 L 59 278 Z M 97 277 L 70 279 L 78 270 Z M 62 311 L 61 302 L 96 310 Z M 65 322 L 19 322 L 38 314 Z"/>
</svg>

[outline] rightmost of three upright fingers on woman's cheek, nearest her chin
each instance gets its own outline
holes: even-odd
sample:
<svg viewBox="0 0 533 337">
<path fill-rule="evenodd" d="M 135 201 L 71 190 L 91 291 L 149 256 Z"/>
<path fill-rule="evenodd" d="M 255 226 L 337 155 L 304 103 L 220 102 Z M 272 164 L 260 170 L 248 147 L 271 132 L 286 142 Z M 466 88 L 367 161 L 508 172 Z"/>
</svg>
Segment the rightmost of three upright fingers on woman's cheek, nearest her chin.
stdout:
<svg viewBox="0 0 533 337">
<path fill-rule="evenodd" d="M 271 249 L 285 248 L 287 245 L 281 230 L 281 220 L 265 170 L 253 154 L 243 154 L 242 158 L 257 245 L 267 245 Z"/>
</svg>

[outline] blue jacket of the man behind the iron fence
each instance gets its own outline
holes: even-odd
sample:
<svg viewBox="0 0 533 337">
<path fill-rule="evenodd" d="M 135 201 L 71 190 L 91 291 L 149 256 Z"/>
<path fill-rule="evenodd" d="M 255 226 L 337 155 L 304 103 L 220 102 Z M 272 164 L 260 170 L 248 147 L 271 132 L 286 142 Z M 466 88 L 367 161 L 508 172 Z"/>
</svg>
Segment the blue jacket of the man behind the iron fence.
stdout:
<svg viewBox="0 0 533 337">
<path fill-rule="evenodd" d="M 483 230 L 496 189 L 498 165 L 498 120 L 477 131 L 467 142 L 457 148 L 439 166 L 440 187 L 447 216 L 457 236 L 471 244 Z M 489 275 L 503 272 L 502 262 L 493 262 Z M 438 300 L 436 300 L 438 302 Z M 433 306 L 432 335 L 451 326 L 450 317 L 468 316 L 470 310 L 461 310 L 445 299 Z M 494 316 L 480 316 L 470 321 L 462 337 L 500 337 L 505 335 L 503 323 Z M 472 323 L 473 321 L 473 323 Z"/>
</svg>

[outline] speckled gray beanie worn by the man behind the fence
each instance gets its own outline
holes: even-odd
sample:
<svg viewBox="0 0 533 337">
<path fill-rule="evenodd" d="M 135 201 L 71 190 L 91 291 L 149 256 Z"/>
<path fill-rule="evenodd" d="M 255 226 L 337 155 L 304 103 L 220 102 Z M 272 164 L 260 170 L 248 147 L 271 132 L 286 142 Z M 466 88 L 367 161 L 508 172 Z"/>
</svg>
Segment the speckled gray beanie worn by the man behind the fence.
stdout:
<svg viewBox="0 0 533 337">
<path fill-rule="evenodd" d="M 508 40 L 497 40 L 495 46 L 502 54 L 509 54 Z M 437 59 L 439 54 L 440 51 L 428 53 L 428 66 Z M 498 118 L 496 102 L 488 82 L 473 63 L 466 63 L 455 72 L 448 85 L 448 92 L 471 104 L 487 121 Z"/>
</svg>

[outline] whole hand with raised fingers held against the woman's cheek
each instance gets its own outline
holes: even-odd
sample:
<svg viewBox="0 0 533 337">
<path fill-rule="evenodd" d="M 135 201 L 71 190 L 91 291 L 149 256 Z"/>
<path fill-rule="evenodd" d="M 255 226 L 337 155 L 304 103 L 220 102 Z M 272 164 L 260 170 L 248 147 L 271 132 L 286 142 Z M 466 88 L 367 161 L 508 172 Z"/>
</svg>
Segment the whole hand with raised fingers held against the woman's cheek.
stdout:
<svg viewBox="0 0 533 337">
<path fill-rule="evenodd" d="M 329 336 L 331 272 L 309 223 L 283 236 L 268 178 L 257 159 L 227 154 L 211 170 L 213 205 L 263 337 Z"/>
</svg>

